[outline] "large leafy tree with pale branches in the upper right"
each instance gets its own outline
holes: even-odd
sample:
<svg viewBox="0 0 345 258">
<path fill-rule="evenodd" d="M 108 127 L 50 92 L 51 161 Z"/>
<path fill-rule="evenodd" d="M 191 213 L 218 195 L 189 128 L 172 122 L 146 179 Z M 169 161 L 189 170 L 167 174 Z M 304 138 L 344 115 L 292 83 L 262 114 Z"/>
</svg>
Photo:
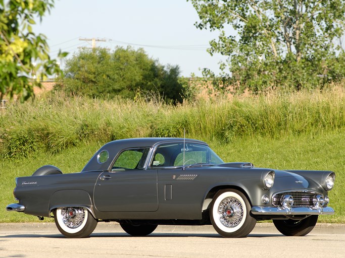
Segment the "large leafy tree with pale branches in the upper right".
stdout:
<svg viewBox="0 0 345 258">
<path fill-rule="evenodd" d="M 254 90 L 277 85 L 298 88 L 345 75 L 345 64 L 338 60 L 343 59 L 343 51 L 335 44 L 344 31 L 343 0 L 190 2 L 200 17 L 195 26 L 220 32 L 208 51 L 228 57 L 221 69 L 223 75 L 228 69 L 232 83 Z M 229 33 L 232 30 L 235 33 Z"/>
</svg>

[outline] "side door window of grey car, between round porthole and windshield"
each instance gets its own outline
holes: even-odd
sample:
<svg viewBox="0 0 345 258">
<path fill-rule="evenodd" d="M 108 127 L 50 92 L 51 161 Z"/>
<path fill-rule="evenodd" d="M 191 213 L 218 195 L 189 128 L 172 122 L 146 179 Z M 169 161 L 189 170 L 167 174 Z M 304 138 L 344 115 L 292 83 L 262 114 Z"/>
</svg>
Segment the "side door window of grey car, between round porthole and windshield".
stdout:
<svg viewBox="0 0 345 258">
<path fill-rule="evenodd" d="M 123 151 L 116 159 L 112 171 L 143 169 L 150 148 L 130 149 Z"/>
</svg>

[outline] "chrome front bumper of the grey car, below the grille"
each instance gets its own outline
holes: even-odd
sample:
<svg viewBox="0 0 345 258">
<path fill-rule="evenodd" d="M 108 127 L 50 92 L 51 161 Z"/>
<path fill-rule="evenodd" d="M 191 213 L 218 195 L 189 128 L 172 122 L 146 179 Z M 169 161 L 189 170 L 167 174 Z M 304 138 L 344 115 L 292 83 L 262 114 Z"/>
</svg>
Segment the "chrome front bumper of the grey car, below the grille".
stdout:
<svg viewBox="0 0 345 258">
<path fill-rule="evenodd" d="M 253 206 L 252 214 L 254 215 L 333 215 L 334 210 L 331 207 L 262 207 Z"/>
</svg>

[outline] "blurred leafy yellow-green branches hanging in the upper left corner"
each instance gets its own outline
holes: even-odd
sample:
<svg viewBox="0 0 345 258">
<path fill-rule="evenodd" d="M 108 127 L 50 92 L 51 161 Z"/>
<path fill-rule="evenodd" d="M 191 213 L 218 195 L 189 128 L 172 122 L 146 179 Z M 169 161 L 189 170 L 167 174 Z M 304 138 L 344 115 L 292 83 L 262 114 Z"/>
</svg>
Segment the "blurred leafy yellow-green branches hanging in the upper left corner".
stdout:
<svg viewBox="0 0 345 258">
<path fill-rule="evenodd" d="M 16 95 L 27 100 L 41 79 L 60 72 L 48 54 L 45 36 L 32 31 L 34 19 L 41 20 L 53 6 L 54 0 L 0 0 L 0 99 Z M 37 80 L 31 81 L 32 74 L 38 73 Z"/>
</svg>

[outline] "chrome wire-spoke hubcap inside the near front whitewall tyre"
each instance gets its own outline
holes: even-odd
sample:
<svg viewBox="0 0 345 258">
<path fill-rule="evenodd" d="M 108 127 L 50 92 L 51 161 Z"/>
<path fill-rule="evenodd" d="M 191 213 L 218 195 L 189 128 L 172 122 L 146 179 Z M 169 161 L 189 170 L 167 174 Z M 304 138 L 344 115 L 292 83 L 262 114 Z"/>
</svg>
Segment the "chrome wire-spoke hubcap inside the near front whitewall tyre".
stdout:
<svg viewBox="0 0 345 258">
<path fill-rule="evenodd" d="M 218 215 L 225 227 L 236 227 L 243 218 L 242 204 L 236 198 L 225 198 L 218 206 Z"/>
</svg>

